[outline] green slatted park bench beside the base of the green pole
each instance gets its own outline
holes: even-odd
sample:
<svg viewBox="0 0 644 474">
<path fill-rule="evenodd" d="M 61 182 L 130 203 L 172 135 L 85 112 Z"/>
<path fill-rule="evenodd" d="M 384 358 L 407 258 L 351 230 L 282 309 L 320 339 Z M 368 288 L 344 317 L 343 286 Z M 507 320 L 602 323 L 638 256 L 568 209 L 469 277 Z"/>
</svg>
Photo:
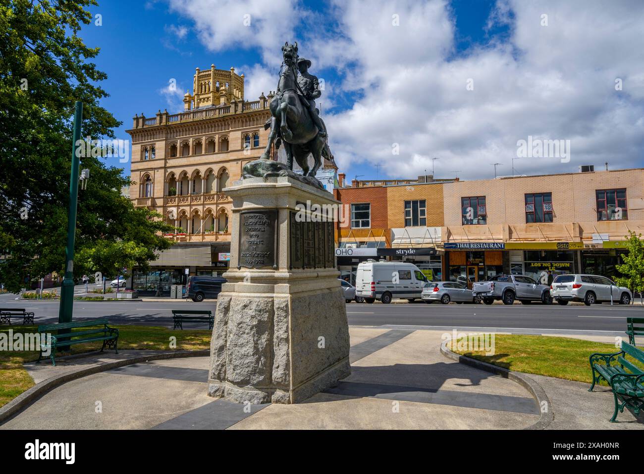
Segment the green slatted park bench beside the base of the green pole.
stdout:
<svg viewBox="0 0 644 474">
<path fill-rule="evenodd" d="M 96 327 L 102 326 L 102 327 Z M 86 330 L 58 333 L 57 335 L 52 335 L 52 341 L 48 344 L 47 341 L 41 340 L 41 351 L 38 354 L 37 363 L 39 363 L 43 357 L 43 350 L 51 348 L 52 365 L 55 366 L 56 362 L 54 356 L 56 354 L 56 349 L 58 346 L 67 347 L 73 344 L 84 344 L 86 342 L 94 341 L 103 341 L 103 346 L 100 348 L 102 352 L 104 348 L 114 349 L 118 354 L 117 343 L 118 343 L 118 329 L 110 328 L 108 326 L 108 320 L 105 318 L 102 319 L 93 319 L 91 321 L 75 321 L 75 322 L 61 322 L 58 324 L 41 324 L 38 326 L 39 333 L 50 333 L 52 331 L 60 331 L 61 329 L 78 329 L 78 328 L 87 328 Z M 61 341 L 61 339 L 63 339 Z"/>
</svg>

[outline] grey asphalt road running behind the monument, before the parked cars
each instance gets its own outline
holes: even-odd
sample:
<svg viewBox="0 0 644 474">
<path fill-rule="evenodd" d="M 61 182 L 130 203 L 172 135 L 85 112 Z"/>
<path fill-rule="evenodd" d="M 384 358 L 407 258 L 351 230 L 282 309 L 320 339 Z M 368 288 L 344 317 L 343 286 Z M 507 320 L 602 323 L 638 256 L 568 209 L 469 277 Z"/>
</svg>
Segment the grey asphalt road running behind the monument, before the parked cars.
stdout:
<svg viewBox="0 0 644 474">
<path fill-rule="evenodd" d="M 28 308 L 35 322 L 55 322 L 59 301 L 15 301 L 0 295 L 0 307 Z M 171 310 L 204 309 L 214 313 L 216 301 L 75 301 L 75 318 L 107 317 L 113 324 L 172 326 Z M 644 317 L 644 306 L 542 306 L 540 304 L 357 304 L 346 305 L 349 324 L 357 326 L 432 326 L 440 328 L 497 328 L 562 331 L 619 331 L 627 317 Z"/>
</svg>

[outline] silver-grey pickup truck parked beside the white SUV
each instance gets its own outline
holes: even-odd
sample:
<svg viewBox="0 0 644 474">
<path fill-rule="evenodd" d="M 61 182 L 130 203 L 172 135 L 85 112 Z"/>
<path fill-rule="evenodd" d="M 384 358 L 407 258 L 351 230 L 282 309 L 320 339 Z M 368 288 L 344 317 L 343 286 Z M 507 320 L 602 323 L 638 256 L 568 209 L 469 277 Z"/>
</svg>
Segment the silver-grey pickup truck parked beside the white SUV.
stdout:
<svg viewBox="0 0 644 474">
<path fill-rule="evenodd" d="M 515 299 L 523 304 L 533 301 L 544 304 L 553 302 L 550 287 L 537 283 L 527 275 L 496 275 L 488 281 L 472 284 L 472 293 L 485 304 L 492 304 L 495 300 L 501 300 L 503 304 L 513 304 Z"/>
</svg>

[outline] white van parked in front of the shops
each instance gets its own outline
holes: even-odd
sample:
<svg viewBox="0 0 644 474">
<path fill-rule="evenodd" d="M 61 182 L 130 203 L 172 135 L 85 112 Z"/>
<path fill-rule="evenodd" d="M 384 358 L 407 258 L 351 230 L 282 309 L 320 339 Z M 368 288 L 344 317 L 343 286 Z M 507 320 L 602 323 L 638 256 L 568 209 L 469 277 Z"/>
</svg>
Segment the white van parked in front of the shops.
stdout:
<svg viewBox="0 0 644 474">
<path fill-rule="evenodd" d="M 413 263 L 406 262 L 362 262 L 355 275 L 355 296 L 372 303 L 379 299 L 383 303 L 392 298 L 409 301 L 420 299 L 427 277 Z"/>
</svg>

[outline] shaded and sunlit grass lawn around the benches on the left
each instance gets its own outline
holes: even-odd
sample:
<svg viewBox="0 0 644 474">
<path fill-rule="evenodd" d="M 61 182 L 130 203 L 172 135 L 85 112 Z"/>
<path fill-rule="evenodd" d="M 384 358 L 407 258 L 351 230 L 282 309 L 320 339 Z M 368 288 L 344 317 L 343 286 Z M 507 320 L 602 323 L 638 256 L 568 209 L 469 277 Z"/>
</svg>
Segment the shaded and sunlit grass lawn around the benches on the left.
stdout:
<svg viewBox="0 0 644 474">
<path fill-rule="evenodd" d="M 156 326 L 111 326 L 117 328 L 119 349 L 170 350 L 170 337 L 176 337 L 176 350 L 209 349 L 212 331 L 210 330 L 171 330 Z M 37 326 L 3 326 L 0 332 L 35 333 Z M 80 328 L 78 331 L 85 330 Z M 77 344 L 71 352 L 59 355 L 77 354 L 100 350 L 102 343 Z M 109 350 L 107 350 L 109 352 Z M 15 399 L 23 391 L 33 386 L 32 377 L 24 370 L 25 362 L 38 359 L 37 351 L 0 351 L 0 406 Z M 51 359 L 43 363 L 51 364 Z"/>
</svg>

